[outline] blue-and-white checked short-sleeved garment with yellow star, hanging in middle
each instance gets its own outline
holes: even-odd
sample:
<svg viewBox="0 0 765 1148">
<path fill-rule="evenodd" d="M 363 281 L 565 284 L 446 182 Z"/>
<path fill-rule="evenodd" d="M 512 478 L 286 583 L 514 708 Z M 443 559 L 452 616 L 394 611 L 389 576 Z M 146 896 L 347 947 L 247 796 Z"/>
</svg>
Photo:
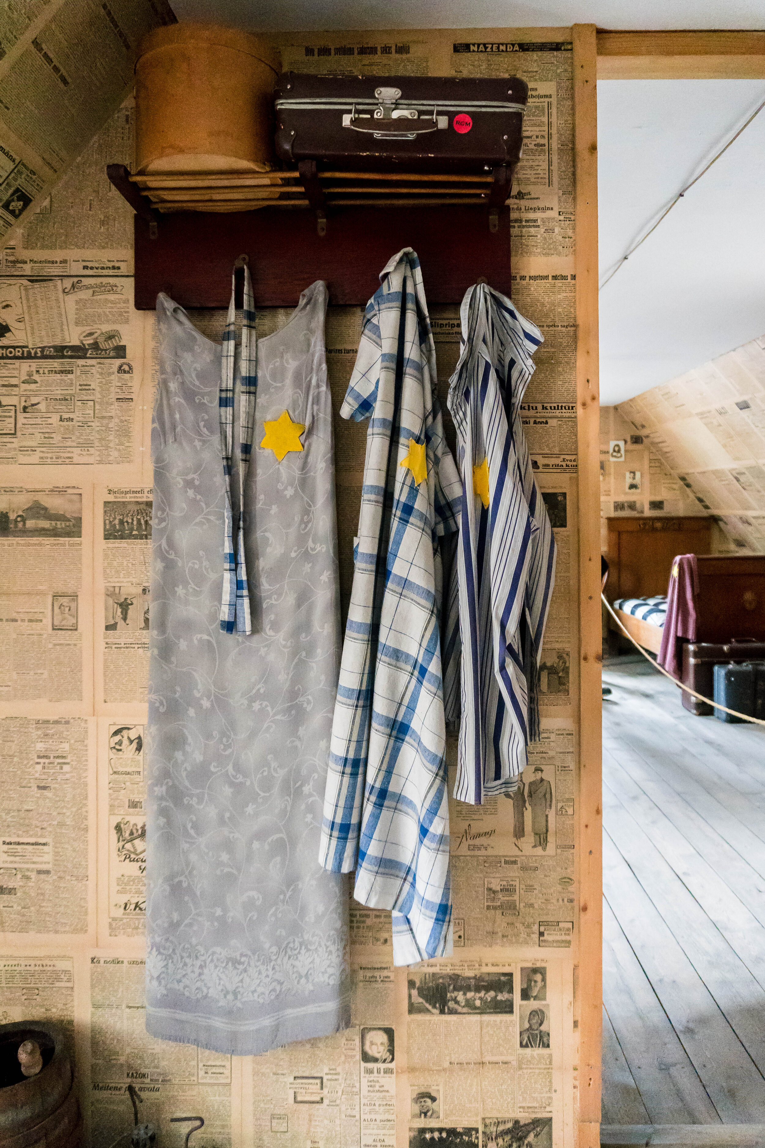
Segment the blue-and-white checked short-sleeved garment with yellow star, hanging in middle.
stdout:
<svg viewBox="0 0 765 1148">
<path fill-rule="evenodd" d="M 369 428 L 320 861 L 393 910 L 393 961 L 412 964 L 451 952 L 439 538 L 461 484 L 414 251 L 380 278 L 341 410 Z"/>
</svg>

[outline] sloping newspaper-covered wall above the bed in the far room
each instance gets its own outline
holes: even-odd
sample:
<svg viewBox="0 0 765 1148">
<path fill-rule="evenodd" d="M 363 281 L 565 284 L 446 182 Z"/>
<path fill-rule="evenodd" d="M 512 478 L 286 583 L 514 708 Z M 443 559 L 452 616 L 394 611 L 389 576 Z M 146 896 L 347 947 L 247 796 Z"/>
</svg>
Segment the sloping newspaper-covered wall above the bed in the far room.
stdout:
<svg viewBox="0 0 765 1148">
<path fill-rule="evenodd" d="M 715 517 L 718 550 L 765 553 L 765 336 L 615 410 Z"/>
</svg>

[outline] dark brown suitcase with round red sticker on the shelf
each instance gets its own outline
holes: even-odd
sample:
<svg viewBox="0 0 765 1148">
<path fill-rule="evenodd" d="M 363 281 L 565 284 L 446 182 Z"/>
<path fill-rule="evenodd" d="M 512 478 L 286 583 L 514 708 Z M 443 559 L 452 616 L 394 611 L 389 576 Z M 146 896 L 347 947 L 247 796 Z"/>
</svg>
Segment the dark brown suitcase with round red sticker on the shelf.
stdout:
<svg viewBox="0 0 765 1148">
<path fill-rule="evenodd" d="M 509 195 L 529 87 L 442 76 L 314 76 L 278 82 L 276 154 L 321 170 L 469 173 L 504 168 Z"/>
</svg>

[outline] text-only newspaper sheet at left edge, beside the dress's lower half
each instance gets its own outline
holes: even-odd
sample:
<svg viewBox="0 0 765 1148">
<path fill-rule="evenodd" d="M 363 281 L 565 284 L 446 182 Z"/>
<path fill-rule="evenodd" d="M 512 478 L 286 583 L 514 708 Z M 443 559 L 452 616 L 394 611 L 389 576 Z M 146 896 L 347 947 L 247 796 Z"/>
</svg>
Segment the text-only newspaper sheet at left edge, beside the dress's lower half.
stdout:
<svg viewBox="0 0 765 1148">
<path fill-rule="evenodd" d="M 0 721 L 0 928 L 85 934 L 93 852 L 95 731 L 86 718 Z"/>
</svg>

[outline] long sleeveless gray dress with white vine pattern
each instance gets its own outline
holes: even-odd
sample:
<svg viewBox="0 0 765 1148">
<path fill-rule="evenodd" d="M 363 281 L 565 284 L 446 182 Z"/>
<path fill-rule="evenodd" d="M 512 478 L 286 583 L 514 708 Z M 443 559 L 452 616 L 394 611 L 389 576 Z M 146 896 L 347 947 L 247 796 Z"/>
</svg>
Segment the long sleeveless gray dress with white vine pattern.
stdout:
<svg viewBox="0 0 765 1148">
<path fill-rule="evenodd" d="M 350 1022 L 346 900 L 317 860 L 339 661 L 326 307 L 315 282 L 258 342 L 244 636 L 219 622 L 221 349 L 157 300 L 147 1029 L 235 1055 Z M 304 449 L 279 461 L 260 443 L 284 411 Z"/>
</svg>

